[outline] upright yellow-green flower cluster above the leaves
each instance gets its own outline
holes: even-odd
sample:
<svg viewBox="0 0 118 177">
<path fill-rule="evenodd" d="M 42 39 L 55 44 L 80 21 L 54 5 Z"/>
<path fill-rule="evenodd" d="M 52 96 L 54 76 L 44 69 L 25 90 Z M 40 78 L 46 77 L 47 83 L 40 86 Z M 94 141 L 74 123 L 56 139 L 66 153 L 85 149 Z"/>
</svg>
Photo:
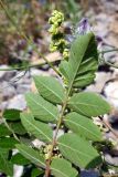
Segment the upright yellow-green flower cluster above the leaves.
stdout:
<svg viewBox="0 0 118 177">
<path fill-rule="evenodd" d="M 54 10 L 52 17 L 49 19 L 51 28 L 49 32 L 52 35 L 52 41 L 50 44 L 50 51 L 60 51 L 63 54 L 64 59 L 68 59 L 68 42 L 64 39 L 64 33 L 62 30 L 62 23 L 64 22 L 64 14 Z"/>
</svg>

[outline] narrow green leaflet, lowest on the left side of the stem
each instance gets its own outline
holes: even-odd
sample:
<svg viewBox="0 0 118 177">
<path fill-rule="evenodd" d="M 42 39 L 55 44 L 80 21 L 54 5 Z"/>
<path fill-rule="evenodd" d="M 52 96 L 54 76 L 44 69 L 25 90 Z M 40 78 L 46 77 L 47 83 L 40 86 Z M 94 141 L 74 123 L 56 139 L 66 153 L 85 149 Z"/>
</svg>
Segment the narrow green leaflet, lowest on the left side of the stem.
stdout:
<svg viewBox="0 0 118 177">
<path fill-rule="evenodd" d="M 36 166 L 43 167 L 43 168 L 45 167 L 44 157 L 40 155 L 39 152 L 23 144 L 18 144 L 17 148 L 31 163 L 35 164 Z"/>
</svg>

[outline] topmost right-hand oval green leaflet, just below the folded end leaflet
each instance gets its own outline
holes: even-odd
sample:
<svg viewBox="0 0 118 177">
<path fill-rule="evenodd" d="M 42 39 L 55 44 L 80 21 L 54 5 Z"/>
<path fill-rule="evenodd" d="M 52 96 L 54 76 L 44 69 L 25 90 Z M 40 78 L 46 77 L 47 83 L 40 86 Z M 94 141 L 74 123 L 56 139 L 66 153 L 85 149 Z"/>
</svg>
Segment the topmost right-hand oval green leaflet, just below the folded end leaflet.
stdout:
<svg viewBox="0 0 118 177">
<path fill-rule="evenodd" d="M 109 104 L 98 94 L 90 92 L 77 93 L 71 97 L 68 106 L 88 117 L 99 116 L 110 112 Z"/>
</svg>

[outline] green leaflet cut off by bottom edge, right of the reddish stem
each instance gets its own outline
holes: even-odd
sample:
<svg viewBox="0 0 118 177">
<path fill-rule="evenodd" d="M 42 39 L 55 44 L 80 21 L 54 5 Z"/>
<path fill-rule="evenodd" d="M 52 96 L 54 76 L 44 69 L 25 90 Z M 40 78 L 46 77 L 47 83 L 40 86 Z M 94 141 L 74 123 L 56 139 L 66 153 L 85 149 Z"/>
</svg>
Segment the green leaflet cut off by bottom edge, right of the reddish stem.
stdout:
<svg viewBox="0 0 118 177">
<path fill-rule="evenodd" d="M 51 173 L 55 177 L 76 177 L 77 170 L 64 158 L 55 158 L 51 164 Z"/>
</svg>

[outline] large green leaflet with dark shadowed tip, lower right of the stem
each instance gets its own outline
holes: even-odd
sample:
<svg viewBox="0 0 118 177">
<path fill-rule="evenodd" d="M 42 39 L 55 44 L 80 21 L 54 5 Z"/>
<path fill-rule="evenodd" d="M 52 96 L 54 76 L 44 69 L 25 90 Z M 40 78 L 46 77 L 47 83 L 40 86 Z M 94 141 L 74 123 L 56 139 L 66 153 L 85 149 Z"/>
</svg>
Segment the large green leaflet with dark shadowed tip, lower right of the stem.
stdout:
<svg viewBox="0 0 118 177">
<path fill-rule="evenodd" d="M 101 163 L 97 150 L 78 135 L 69 133 L 61 136 L 58 148 L 62 155 L 76 166 L 95 168 Z"/>
</svg>

